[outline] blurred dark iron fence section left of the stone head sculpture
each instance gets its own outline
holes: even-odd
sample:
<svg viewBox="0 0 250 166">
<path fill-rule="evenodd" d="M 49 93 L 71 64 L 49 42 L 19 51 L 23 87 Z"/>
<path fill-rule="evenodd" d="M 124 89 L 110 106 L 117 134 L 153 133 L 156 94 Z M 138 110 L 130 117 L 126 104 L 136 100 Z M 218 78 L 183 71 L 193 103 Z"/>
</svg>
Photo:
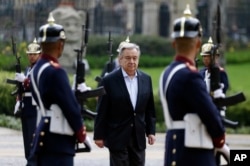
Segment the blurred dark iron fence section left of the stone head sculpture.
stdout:
<svg viewBox="0 0 250 166">
<path fill-rule="evenodd" d="M 44 24 L 48 13 L 59 0 L 1 0 L 0 40 L 15 35 L 20 40 L 33 40 L 37 30 Z"/>
</svg>

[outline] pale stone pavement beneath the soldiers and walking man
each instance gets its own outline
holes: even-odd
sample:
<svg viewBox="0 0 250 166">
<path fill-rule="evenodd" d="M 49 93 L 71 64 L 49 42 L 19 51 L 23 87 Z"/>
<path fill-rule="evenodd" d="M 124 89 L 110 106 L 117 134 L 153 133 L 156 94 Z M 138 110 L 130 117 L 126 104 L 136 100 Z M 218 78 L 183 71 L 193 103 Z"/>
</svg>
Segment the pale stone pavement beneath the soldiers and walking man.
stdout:
<svg viewBox="0 0 250 166">
<path fill-rule="evenodd" d="M 88 133 L 93 138 L 93 133 Z M 163 165 L 165 134 L 156 134 L 156 143 L 147 145 L 146 166 Z M 0 127 L 0 166 L 25 166 L 22 133 Z M 250 149 L 250 135 L 228 135 L 227 143 L 231 149 Z M 90 153 L 77 153 L 75 166 L 109 166 L 106 148 L 100 149 L 93 144 Z"/>
</svg>

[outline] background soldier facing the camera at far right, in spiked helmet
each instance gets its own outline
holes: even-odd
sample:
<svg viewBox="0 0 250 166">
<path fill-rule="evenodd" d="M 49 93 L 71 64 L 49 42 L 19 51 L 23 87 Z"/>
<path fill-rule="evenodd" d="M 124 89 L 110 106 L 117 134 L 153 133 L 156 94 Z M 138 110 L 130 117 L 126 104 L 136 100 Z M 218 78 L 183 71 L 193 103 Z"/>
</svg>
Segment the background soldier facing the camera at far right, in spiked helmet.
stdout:
<svg viewBox="0 0 250 166">
<path fill-rule="evenodd" d="M 202 56 L 202 62 L 204 64 L 204 68 L 202 68 L 200 70 L 201 75 L 204 78 L 204 81 L 207 85 L 207 91 L 210 93 L 210 69 L 209 66 L 212 63 L 212 48 L 213 48 L 214 44 L 212 41 L 212 38 L 210 37 L 208 40 L 208 43 L 205 43 L 202 45 L 201 47 L 201 56 Z M 217 65 L 219 65 L 219 50 L 216 50 L 216 54 L 215 54 L 215 63 Z M 221 83 L 223 84 L 223 93 L 226 94 L 228 87 L 229 87 L 229 82 L 228 82 L 228 77 L 227 77 L 227 73 L 224 70 L 223 67 L 219 66 L 220 69 L 220 80 Z"/>
</svg>

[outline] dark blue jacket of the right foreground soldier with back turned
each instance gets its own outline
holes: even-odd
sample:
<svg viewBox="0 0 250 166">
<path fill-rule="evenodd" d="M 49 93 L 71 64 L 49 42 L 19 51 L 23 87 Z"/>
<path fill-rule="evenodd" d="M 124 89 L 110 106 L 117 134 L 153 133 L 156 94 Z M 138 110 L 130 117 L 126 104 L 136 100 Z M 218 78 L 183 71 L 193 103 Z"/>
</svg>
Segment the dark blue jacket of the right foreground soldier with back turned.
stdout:
<svg viewBox="0 0 250 166">
<path fill-rule="evenodd" d="M 171 70 L 186 64 L 172 77 L 166 99 L 172 120 L 183 120 L 187 113 L 197 113 L 212 138 L 224 135 L 224 126 L 216 106 L 206 90 L 205 82 L 196 67 L 184 57 L 177 56 L 164 71 L 163 86 Z M 213 150 L 184 147 L 184 129 L 167 131 L 165 145 L 165 166 L 215 166 Z"/>
</svg>

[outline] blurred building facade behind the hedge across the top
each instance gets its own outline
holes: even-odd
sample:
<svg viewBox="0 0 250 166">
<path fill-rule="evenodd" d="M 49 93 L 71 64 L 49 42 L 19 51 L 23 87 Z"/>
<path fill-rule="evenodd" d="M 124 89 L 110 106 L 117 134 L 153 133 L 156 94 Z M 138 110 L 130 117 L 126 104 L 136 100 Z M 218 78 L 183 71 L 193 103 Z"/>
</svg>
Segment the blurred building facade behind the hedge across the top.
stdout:
<svg viewBox="0 0 250 166">
<path fill-rule="evenodd" d="M 219 2 L 220 0 L 218 0 Z M 114 35 L 143 34 L 169 37 L 172 22 L 183 14 L 186 4 L 202 23 L 205 36 L 213 33 L 217 1 L 214 0 L 0 0 L 0 40 L 15 34 L 20 40 L 32 41 L 50 11 L 61 4 L 87 11 L 90 33 Z M 221 20 L 227 35 L 249 35 L 248 0 L 221 1 Z M 227 18 L 230 17 L 230 19 Z M 243 20 L 243 21 L 242 21 Z M 229 33 L 229 34 L 228 34 Z M 232 35 L 231 35 L 232 36 Z"/>
</svg>

